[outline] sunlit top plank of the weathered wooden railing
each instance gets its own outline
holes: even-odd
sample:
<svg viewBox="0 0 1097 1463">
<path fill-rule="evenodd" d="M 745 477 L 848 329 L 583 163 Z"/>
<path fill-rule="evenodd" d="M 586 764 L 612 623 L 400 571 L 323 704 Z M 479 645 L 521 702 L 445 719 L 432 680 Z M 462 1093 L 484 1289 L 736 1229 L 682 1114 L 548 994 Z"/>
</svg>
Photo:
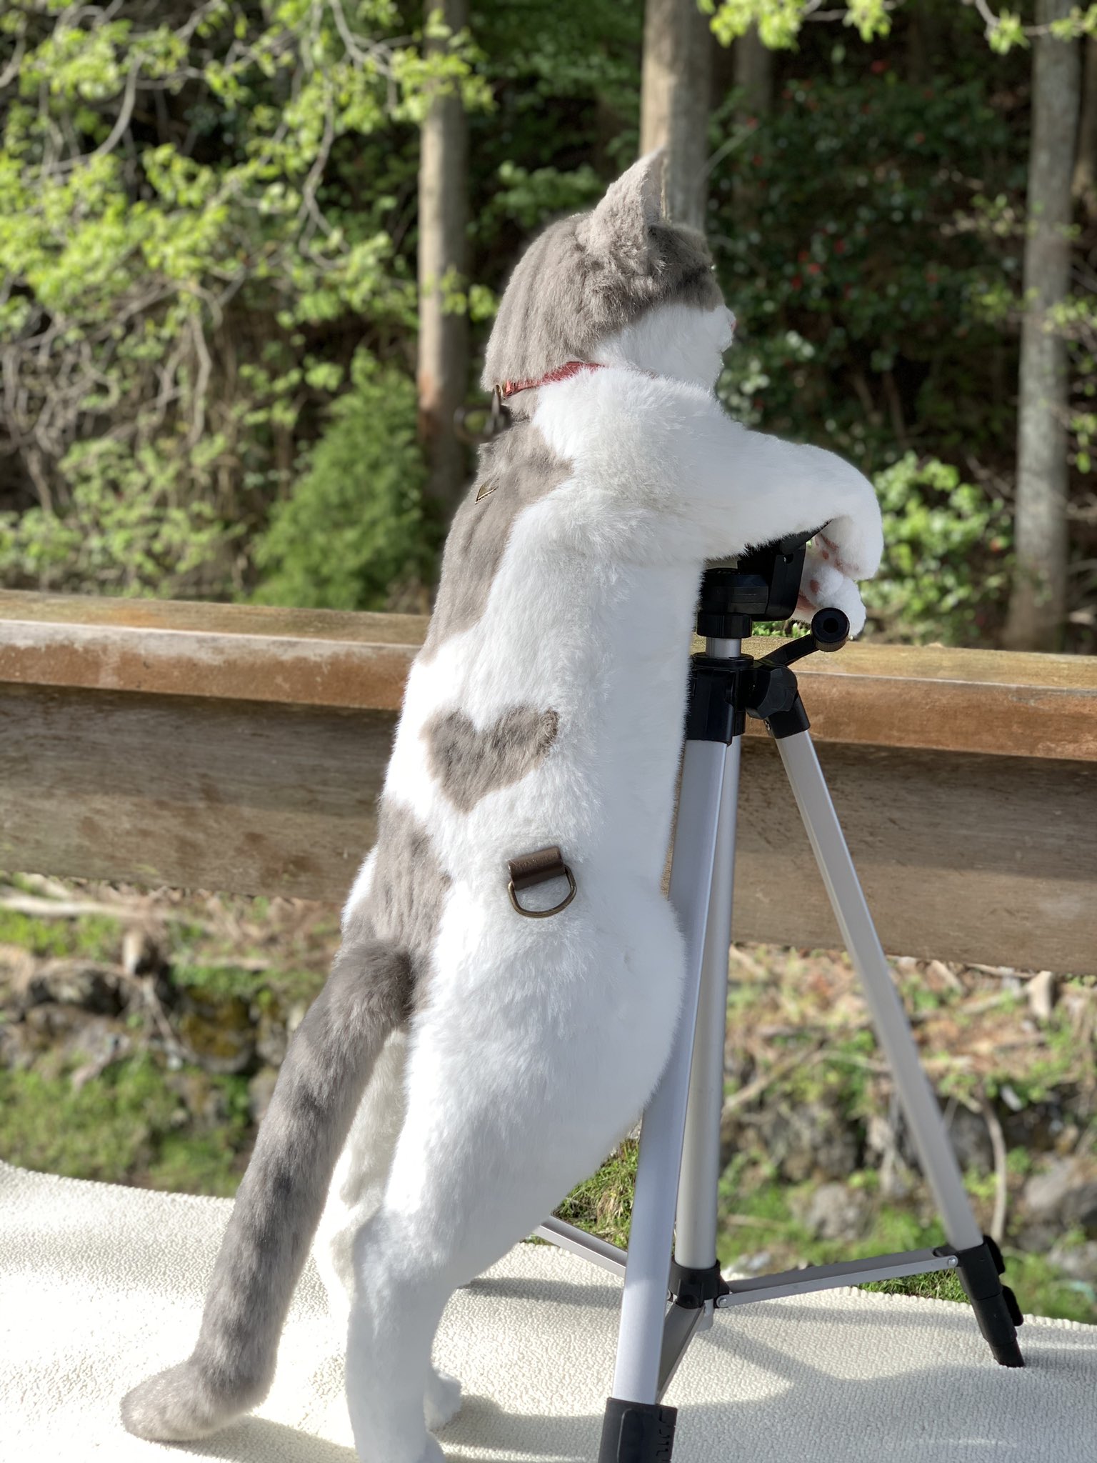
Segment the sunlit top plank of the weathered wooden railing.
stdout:
<svg viewBox="0 0 1097 1463">
<path fill-rule="evenodd" d="M 426 623 L 9 591 L 0 683 L 395 711 Z M 1088 657 L 850 645 L 797 674 L 821 742 L 1097 761 Z M 750 732 L 764 734 L 756 723 Z"/>
</svg>

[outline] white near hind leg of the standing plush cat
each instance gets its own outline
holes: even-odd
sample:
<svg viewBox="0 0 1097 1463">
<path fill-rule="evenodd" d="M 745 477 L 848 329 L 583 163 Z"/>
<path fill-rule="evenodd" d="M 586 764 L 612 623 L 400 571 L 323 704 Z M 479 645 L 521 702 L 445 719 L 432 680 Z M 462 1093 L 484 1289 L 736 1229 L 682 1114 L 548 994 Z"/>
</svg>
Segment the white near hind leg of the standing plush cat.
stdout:
<svg viewBox="0 0 1097 1463">
<path fill-rule="evenodd" d="M 347 1402 L 363 1463 L 439 1463 L 424 1394 L 449 1296 L 639 1116 L 680 998 L 682 942 L 657 890 L 652 901 L 627 936 L 576 920 L 528 961 L 500 958 L 470 983 L 436 974 L 385 1198 L 354 1242 Z"/>
</svg>

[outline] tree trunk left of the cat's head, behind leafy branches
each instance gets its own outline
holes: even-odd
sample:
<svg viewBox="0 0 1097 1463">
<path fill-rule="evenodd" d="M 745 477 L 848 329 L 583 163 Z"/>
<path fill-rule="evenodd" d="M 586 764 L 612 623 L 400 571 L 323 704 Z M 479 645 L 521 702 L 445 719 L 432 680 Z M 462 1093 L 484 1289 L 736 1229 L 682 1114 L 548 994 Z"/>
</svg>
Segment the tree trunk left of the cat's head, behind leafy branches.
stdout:
<svg viewBox="0 0 1097 1463">
<path fill-rule="evenodd" d="M 427 0 L 451 31 L 468 23 L 468 0 Z M 448 42 L 424 41 L 424 53 Z M 426 496 L 443 522 L 456 508 L 465 454 L 453 435 L 453 411 L 468 385 L 468 316 L 445 309 L 443 284 L 467 281 L 468 120 L 459 95 L 436 97 L 423 123 L 418 165 L 418 430 L 427 454 Z"/>
</svg>

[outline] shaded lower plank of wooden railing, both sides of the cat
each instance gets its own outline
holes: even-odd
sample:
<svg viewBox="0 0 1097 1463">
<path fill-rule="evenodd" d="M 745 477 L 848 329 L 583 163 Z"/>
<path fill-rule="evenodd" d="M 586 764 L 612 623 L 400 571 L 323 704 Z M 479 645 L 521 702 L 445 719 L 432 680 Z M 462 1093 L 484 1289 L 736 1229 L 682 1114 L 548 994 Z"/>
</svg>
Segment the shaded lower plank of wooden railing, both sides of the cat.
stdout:
<svg viewBox="0 0 1097 1463">
<path fill-rule="evenodd" d="M 0 868 L 341 901 L 395 715 L 0 688 Z M 894 954 L 1097 974 L 1097 767 L 822 745 Z M 840 944 L 775 749 L 744 748 L 736 935 Z M 502 872 L 500 872 L 502 876 Z"/>
</svg>

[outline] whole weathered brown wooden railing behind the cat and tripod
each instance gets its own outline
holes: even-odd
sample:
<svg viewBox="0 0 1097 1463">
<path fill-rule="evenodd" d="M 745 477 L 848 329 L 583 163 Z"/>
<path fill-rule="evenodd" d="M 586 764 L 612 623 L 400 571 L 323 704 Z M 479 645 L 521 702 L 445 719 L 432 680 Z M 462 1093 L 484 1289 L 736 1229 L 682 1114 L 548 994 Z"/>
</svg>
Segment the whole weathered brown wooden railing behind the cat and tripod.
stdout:
<svg viewBox="0 0 1097 1463">
<path fill-rule="evenodd" d="M 424 631 L 0 593 L 0 868 L 339 901 Z M 889 951 L 1097 973 L 1097 661 L 850 645 L 797 674 Z M 837 945 L 750 733 L 736 933 Z"/>
</svg>

